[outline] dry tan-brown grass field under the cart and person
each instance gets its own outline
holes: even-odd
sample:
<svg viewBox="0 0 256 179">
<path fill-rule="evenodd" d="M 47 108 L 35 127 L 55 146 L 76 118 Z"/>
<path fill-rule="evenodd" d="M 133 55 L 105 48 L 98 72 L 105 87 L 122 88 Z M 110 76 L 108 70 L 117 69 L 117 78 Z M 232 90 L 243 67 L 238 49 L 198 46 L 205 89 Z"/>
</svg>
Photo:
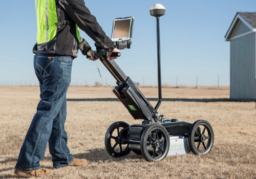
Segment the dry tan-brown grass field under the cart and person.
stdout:
<svg viewBox="0 0 256 179">
<path fill-rule="evenodd" d="M 14 166 L 39 101 L 39 87 L 0 87 L 0 178 L 18 178 Z M 157 88 L 142 87 L 157 103 Z M 207 120 L 215 143 L 205 155 L 189 153 L 146 162 L 139 155 L 115 159 L 104 148 L 108 127 L 116 121 L 134 120 L 116 100 L 109 87 L 70 87 L 66 130 L 76 158 L 86 158 L 82 167 L 55 169 L 45 178 L 256 178 L 256 109 L 254 102 L 230 102 L 228 88 L 163 88 L 165 100 L 159 113 L 193 123 Z M 196 102 L 193 102 L 193 99 Z M 52 169 L 50 153 L 40 162 Z"/>
</svg>

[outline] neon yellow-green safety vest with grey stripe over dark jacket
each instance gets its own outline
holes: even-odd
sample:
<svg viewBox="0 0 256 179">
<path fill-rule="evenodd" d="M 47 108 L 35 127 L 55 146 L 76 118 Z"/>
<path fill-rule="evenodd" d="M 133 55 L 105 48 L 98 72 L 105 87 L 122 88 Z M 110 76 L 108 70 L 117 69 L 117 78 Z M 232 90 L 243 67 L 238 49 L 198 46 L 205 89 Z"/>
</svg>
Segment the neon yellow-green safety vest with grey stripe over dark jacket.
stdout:
<svg viewBox="0 0 256 179">
<path fill-rule="evenodd" d="M 54 39 L 57 33 L 58 17 L 54 0 L 35 0 L 37 19 L 37 44 Z M 67 23 L 68 24 L 68 23 Z M 80 42 L 79 28 L 76 25 L 76 35 Z"/>
</svg>

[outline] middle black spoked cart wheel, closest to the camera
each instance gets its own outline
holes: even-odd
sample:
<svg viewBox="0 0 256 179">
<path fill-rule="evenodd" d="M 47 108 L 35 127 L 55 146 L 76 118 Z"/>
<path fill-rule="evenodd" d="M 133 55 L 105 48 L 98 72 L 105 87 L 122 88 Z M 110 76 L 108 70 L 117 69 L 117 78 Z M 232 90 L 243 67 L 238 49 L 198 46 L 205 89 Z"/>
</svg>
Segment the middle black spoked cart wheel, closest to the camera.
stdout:
<svg viewBox="0 0 256 179">
<path fill-rule="evenodd" d="M 147 161 L 160 161 L 169 151 L 169 134 L 161 124 L 148 126 L 141 135 L 141 153 Z"/>
</svg>

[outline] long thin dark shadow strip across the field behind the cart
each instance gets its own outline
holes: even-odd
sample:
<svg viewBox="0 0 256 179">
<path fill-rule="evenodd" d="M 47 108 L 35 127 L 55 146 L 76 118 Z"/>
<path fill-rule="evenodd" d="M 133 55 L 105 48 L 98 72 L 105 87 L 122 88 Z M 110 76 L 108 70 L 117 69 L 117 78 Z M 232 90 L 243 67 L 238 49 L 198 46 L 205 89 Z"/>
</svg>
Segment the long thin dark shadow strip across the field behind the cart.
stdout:
<svg viewBox="0 0 256 179">
<path fill-rule="evenodd" d="M 147 98 L 148 101 L 158 101 L 158 98 Z M 83 98 L 83 99 L 67 99 L 67 101 L 119 101 L 118 98 Z M 229 99 L 229 98 L 205 98 L 205 99 L 189 99 L 189 98 L 162 98 L 162 101 L 181 101 L 181 102 L 253 102 L 255 99 Z"/>
</svg>

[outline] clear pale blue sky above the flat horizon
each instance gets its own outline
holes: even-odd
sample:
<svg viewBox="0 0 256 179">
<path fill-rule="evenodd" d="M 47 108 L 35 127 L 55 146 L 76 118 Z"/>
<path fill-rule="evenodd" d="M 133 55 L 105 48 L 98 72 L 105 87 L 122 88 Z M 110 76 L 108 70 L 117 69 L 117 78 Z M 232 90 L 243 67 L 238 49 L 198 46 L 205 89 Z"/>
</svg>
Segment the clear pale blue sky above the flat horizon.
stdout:
<svg viewBox="0 0 256 179">
<path fill-rule="evenodd" d="M 156 18 L 149 9 L 165 8 L 160 17 L 162 84 L 229 85 L 229 42 L 224 36 L 237 12 L 256 12 L 255 0 L 130 0 L 85 1 L 98 23 L 111 36 L 113 19 L 134 16 L 131 49 L 121 50 L 117 64 L 140 85 L 157 85 Z M 2 1 L 0 6 L 0 85 L 38 85 L 32 48 L 36 43 L 34 1 Z M 94 49 L 94 41 L 80 30 Z M 115 79 L 98 63 L 103 79 Z M 71 85 L 104 84 L 96 61 L 78 53 Z"/>
</svg>

